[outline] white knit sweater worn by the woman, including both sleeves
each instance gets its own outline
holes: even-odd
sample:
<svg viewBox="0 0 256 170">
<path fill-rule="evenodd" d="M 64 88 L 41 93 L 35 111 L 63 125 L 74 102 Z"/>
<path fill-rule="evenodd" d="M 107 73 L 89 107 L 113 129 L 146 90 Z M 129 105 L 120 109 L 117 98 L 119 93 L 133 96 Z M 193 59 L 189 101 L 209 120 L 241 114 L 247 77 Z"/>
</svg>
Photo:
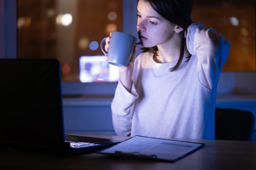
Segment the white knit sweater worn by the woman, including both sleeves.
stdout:
<svg viewBox="0 0 256 170">
<path fill-rule="evenodd" d="M 176 62 L 156 63 L 153 54 L 135 60 L 131 92 L 118 82 L 111 108 L 115 131 L 121 136 L 215 139 L 217 81 L 229 53 L 229 41 L 213 29 L 192 24 L 187 48 Z"/>
</svg>

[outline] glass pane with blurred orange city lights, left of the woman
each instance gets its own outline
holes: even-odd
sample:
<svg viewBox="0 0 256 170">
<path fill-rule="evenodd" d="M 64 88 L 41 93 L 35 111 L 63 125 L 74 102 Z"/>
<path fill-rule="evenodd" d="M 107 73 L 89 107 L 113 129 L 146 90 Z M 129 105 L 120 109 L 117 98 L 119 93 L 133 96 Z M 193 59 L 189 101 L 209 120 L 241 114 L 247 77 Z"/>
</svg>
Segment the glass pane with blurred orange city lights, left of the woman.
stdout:
<svg viewBox="0 0 256 170">
<path fill-rule="evenodd" d="M 86 56 L 97 56 L 97 59 L 99 55 L 103 55 L 99 48 L 101 39 L 113 31 L 123 31 L 121 0 L 17 2 L 18 57 L 58 58 L 64 82 L 79 82 L 79 73 L 83 72 L 79 69 L 80 61 L 84 63 Z M 99 68 L 97 63 L 89 62 L 95 59 L 88 59 L 88 63 L 84 63 L 88 67 L 86 70 Z M 101 71 L 99 68 L 98 71 L 88 71 L 91 72 Z M 102 78 L 95 81 L 108 81 L 103 77 L 105 75 L 102 74 Z M 82 79 L 86 80 L 89 81 Z"/>
</svg>

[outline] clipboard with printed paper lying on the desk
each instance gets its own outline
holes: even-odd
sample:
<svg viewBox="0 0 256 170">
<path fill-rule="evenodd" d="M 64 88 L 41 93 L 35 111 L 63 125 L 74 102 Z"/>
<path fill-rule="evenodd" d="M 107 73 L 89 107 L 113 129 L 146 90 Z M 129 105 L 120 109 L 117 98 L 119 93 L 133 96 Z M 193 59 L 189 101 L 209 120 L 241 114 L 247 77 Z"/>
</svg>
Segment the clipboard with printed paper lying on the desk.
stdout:
<svg viewBox="0 0 256 170">
<path fill-rule="evenodd" d="M 204 146 L 204 143 L 133 136 L 97 153 L 176 162 Z"/>
</svg>

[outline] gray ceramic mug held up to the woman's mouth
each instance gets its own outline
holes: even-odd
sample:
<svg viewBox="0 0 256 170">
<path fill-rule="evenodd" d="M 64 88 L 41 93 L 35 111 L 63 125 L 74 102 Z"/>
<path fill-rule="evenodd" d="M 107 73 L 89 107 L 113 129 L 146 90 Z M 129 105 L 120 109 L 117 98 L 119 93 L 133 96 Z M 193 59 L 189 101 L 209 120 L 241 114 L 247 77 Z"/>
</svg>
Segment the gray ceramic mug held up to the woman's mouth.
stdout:
<svg viewBox="0 0 256 170">
<path fill-rule="evenodd" d="M 130 34 L 114 31 L 111 34 L 111 40 L 108 51 L 105 51 L 106 37 L 100 42 L 101 51 L 108 56 L 107 62 L 114 66 L 125 67 L 131 57 L 136 44 L 136 37 Z"/>
</svg>

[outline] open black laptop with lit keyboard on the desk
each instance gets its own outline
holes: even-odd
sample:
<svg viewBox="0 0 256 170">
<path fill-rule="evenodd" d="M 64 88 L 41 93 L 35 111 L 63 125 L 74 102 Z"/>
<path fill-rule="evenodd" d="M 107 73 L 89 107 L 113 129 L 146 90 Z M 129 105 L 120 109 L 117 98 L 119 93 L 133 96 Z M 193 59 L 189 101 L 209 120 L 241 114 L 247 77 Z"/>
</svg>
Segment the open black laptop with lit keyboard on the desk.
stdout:
<svg viewBox="0 0 256 170">
<path fill-rule="evenodd" d="M 59 61 L 0 59 L 0 148 L 80 154 L 117 143 L 64 132 Z"/>
</svg>

